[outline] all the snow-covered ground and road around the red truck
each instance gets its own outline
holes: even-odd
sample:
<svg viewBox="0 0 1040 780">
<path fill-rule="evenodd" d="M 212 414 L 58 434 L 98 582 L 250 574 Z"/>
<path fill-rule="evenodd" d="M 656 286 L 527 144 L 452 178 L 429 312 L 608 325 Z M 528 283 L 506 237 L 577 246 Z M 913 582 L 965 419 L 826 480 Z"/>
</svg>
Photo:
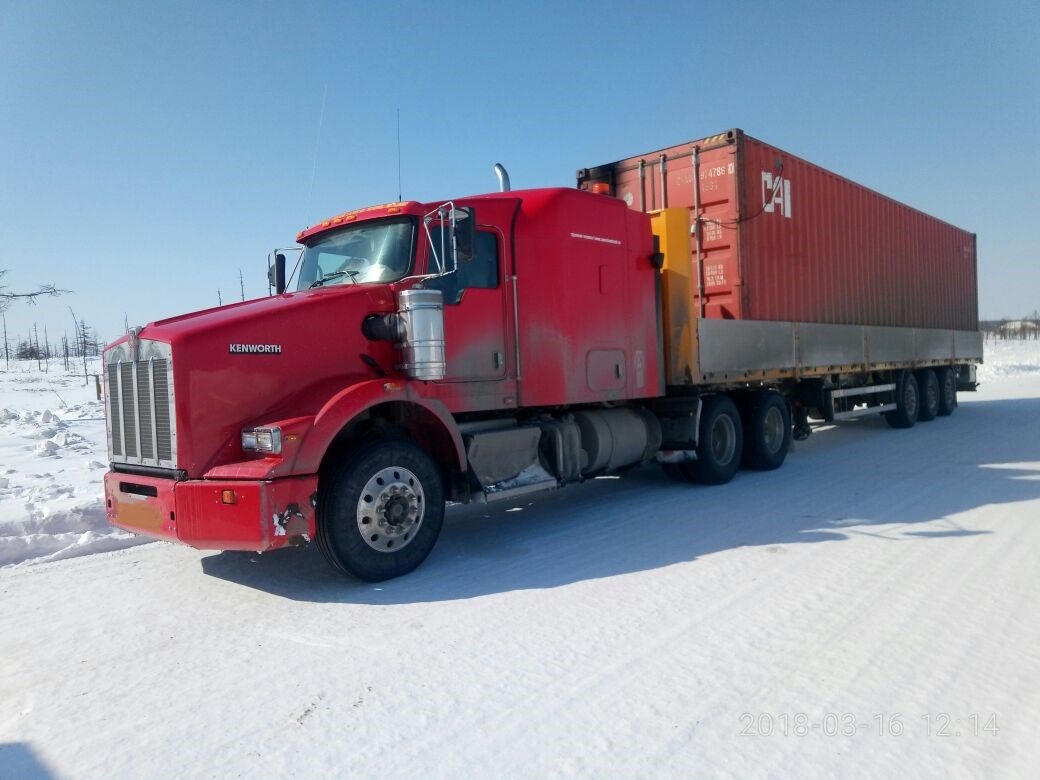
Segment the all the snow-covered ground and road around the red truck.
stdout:
<svg viewBox="0 0 1040 780">
<path fill-rule="evenodd" d="M 1035 777 L 1040 344 L 980 378 L 727 486 L 454 510 L 381 586 L 307 548 L 0 569 L 0 777 Z M 30 379 L 2 380 L 0 532 L 82 549 L 100 409 Z"/>
</svg>

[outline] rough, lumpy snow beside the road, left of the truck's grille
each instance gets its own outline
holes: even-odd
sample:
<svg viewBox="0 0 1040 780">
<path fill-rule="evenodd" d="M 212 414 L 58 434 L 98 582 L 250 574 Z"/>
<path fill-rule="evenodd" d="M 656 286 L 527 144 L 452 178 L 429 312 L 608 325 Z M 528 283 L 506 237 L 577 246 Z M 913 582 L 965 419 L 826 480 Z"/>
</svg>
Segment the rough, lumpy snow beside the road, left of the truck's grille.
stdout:
<svg viewBox="0 0 1040 780">
<path fill-rule="evenodd" d="M 95 366 L 92 370 L 97 370 Z M 105 519 L 105 419 L 93 378 L 0 370 L 0 566 L 137 544 Z"/>
</svg>

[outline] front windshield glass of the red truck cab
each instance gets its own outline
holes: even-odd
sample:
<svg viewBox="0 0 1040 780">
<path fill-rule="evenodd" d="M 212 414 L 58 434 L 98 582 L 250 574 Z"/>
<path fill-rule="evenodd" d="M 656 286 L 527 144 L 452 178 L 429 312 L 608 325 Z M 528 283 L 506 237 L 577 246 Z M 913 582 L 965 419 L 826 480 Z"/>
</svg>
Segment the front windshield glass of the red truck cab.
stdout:
<svg viewBox="0 0 1040 780">
<path fill-rule="evenodd" d="M 297 290 L 334 284 L 394 282 L 412 266 L 415 222 L 409 217 L 352 225 L 304 248 Z"/>
</svg>

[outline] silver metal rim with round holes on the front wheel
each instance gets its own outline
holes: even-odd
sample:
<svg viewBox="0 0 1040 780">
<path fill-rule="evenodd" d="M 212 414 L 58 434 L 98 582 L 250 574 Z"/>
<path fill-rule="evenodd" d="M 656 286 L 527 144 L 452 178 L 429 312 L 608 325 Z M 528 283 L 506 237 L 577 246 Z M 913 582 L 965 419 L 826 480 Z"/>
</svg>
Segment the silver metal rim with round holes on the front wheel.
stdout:
<svg viewBox="0 0 1040 780">
<path fill-rule="evenodd" d="M 419 478 L 400 466 L 380 469 L 358 499 L 358 531 L 379 552 L 396 552 L 415 539 L 425 515 Z"/>
</svg>

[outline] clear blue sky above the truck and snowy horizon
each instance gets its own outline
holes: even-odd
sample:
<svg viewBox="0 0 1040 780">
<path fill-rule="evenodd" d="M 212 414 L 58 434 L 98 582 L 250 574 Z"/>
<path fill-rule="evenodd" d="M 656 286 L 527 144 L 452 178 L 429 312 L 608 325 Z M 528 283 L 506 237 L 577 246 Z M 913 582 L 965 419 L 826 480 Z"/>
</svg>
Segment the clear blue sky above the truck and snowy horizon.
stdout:
<svg viewBox="0 0 1040 780">
<path fill-rule="evenodd" d="M 1040 308 L 1036 0 L 436 8 L 0 0 L 0 268 L 74 290 L 11 337 L 266 294 L 272 246 L 396 198 L 398 107 L 406 198 L 742 127 L 978 233 L 983 316 Z"/>
</svg>

